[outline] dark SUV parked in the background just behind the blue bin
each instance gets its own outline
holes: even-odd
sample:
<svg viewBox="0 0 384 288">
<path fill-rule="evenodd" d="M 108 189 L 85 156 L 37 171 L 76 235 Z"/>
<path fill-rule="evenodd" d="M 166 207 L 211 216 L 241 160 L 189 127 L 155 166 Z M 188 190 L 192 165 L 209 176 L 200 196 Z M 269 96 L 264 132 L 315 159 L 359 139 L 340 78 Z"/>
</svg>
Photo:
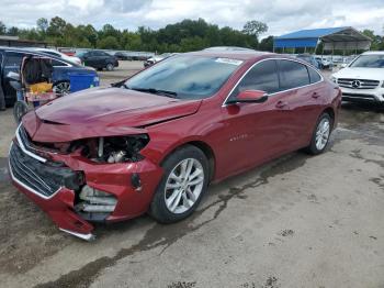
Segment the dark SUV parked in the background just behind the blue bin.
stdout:
<svg viewBox="0 0 384 288">
<path fill-rule="evenodd" d="M 106 69 L 112 71 L 115 67 L 118 67 L 117 58 L 103 51 L 81 51 L 76 53 L 76 56 L 81 59 L 84 66 L 90 66 L 98 70 Z"/>
</svg>

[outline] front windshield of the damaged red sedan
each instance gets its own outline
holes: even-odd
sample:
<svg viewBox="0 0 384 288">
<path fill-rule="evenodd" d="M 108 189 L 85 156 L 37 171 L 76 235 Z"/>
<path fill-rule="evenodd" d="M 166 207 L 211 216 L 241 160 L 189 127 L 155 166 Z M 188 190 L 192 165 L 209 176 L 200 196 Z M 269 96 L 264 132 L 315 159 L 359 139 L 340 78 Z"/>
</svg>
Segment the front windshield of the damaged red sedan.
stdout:
<svg viewBox="0 0 384 288">
<path fill-rule="evenodd" d="M 176 56 L 143 70 L 124 86 L 148 92 L 167 91 L 180 99 L 203 99 L 214 95 L 241 63 L 219 57 Z"/>
</svg>

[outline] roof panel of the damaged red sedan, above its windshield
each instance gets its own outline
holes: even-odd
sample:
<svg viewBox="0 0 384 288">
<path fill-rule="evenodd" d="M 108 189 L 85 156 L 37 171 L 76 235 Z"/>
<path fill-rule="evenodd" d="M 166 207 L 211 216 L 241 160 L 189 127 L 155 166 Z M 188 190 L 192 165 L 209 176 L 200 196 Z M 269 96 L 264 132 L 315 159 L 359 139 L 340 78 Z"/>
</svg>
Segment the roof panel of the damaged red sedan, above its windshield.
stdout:
<svg viewBox="0 0 384 288">
<path fill-rule="evenodd" d="M 238 60 L 250 60 L 257 59 L 261 56 L 278 55 L 270 52 L 260 52 L 260 51 L 197 51 L 185 53 L 187 55 L 195 56 L 208 56 L 208 57 L 223 57 L 223 58 L 233 58 Z"/>
</svg>

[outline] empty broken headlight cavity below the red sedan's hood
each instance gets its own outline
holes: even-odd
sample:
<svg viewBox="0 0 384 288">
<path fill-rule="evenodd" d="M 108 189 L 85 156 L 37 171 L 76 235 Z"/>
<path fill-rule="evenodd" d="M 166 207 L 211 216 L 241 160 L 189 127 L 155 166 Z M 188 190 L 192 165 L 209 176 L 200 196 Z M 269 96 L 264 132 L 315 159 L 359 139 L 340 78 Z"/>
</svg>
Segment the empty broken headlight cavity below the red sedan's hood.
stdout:
<svg viewBox="0 0 384 288">
<path fill-rule="evenodd" d="M 147 134 L 100 137 L 92 153 L 93 160 L 99 163 L 138 162 L 144 157 L 139 152 L 148 144 Z M 95 155 L 94 155 L 95 154 Z"/>
</svg>

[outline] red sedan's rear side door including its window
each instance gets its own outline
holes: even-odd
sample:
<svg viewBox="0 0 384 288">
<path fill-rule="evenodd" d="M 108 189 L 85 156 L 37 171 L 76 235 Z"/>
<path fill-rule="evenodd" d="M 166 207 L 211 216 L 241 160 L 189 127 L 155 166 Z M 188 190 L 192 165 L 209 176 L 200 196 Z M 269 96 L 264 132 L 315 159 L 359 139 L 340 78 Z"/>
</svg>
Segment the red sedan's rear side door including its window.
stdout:
<svg viewBox="0 0 384 288">
<path fill-rule="evenodd" d="M 314 123 L 323 109 L 323 78 L 300 62 L 278 59 L 278 66 L 280 90 L 284 92 L 283 100 L 289 107 L 285 133 L 293 151 L 308 144 Z"/>
</svg>

